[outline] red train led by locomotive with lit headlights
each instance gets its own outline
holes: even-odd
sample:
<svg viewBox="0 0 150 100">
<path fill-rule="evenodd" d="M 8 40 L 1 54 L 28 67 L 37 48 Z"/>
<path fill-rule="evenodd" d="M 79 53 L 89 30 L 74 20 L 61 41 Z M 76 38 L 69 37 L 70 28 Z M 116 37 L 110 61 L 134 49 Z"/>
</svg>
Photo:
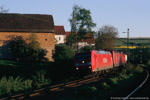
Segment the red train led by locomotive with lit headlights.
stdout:
<svg viewBox="0 0 150 100">
<path fill-rule="evenodd" d="M 127 55 L 115 51 L 91 51 L 75 55 L 75 68 L 78 71 L 98 72 L 119 67 L 127 62 Z"/>
</svg>

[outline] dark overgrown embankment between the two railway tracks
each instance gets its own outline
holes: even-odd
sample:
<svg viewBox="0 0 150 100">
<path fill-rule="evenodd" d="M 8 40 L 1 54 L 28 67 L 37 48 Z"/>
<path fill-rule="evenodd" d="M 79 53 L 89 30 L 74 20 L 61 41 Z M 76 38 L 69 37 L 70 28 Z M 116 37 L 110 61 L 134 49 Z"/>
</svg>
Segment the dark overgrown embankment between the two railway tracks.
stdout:
<svg viewBox="0 0 150 100">
<path fill-rule="evenodd" d="M 71 93 L 65 92 L 58 100 L 108 100 L 123 99 L 133 91 L 145 78 L 146 73 L 138 65 L 130 66 L 112 77 L 96 83 L 77 87 Z M 68 95 L 67 95 L 68 94 Z"/>
</svg>

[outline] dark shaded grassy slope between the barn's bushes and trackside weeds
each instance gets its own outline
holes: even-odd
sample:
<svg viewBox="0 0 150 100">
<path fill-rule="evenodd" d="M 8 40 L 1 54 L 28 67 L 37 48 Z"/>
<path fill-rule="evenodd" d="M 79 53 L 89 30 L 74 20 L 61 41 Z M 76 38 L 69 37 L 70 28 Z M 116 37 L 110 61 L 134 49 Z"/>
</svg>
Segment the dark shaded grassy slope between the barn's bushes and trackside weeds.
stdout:
<svg viewBox="0 0 150 100">
<path fill-rule="evenodd" d="M 73 73 L 73 61 L 63 62 L 32 62 L 23 63 L 16 61 L 0 60 L 0 78 L 2 76 L 20 76 L 31 78 L 35 71 L 46 70 L 47 76 L 53 81 L 66 79 Z"/>
</svg>

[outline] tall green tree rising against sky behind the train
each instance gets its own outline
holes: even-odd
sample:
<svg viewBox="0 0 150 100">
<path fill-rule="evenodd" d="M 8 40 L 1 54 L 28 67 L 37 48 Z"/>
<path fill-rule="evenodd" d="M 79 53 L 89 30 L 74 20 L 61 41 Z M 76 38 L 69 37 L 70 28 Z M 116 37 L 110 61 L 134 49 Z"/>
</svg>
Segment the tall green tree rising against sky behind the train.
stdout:
<svg viewBox="0 0 150 100">
<path fill-rule="evenodd" d="M 76 43 L 78 40 L 83 40 L 86 38 L 86 34 L 88 32 L 93 33 L 92 28 L 96 26 L 91 17 L 90 10 L 86 10 L 85 8 L 79 7 L 78 5 L 74 5 L 72 17 L 69 19 L 71 25 L 71 33 L 78 34 L 78 37 L 70 37 L 73 42 L 68 41 L 70 43 Z"/>
</svg>

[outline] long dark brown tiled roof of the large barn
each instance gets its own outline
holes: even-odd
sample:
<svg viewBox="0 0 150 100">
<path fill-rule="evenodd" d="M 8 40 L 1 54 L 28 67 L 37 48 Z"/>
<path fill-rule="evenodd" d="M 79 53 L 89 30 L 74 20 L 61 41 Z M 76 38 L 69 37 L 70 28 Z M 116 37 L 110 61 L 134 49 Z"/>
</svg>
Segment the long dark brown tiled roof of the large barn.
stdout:
<svg viewBox="0 0 150 100">
<path fill-rule="evenodd" d="M 1 13 L 0 31 L 53 33 L 54 21 L 52 15 Z"/>
</svg>

